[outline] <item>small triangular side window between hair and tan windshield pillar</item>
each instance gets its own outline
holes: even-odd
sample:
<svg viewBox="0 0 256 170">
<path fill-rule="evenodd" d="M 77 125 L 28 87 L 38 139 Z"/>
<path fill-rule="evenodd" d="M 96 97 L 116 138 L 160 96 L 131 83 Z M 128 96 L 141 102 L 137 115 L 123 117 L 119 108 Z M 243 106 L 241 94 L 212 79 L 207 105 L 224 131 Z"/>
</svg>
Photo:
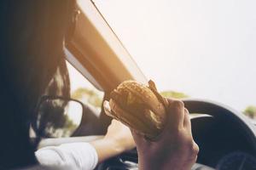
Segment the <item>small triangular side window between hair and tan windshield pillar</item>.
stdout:
<svg viewBox="0 0 256 170">
<path fill-rule="evenodd" d="M 71 98 L 78 99 L 100 116 L 104 93 L 93 86 L 73 65 L 67 61 L 70 77 Z"/>
</svg>

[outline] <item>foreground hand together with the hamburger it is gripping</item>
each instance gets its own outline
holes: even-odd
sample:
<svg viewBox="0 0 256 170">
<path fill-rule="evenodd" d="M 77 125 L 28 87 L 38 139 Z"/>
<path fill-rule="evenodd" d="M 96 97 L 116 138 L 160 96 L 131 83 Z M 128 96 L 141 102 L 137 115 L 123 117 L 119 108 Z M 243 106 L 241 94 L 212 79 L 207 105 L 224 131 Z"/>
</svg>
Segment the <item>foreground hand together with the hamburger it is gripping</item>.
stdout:
<svg viewBox="0 0 256 170">
<path fill-rule="evenodd" d="M 199 147 L 183 101 L 163 98 L 152 81 L 148 86 L 123 82 L 110 98 L 109 105 L 104 103 L 105 111 L 131 127 L 140 170 L 191 169 Z"/>
</svg>

